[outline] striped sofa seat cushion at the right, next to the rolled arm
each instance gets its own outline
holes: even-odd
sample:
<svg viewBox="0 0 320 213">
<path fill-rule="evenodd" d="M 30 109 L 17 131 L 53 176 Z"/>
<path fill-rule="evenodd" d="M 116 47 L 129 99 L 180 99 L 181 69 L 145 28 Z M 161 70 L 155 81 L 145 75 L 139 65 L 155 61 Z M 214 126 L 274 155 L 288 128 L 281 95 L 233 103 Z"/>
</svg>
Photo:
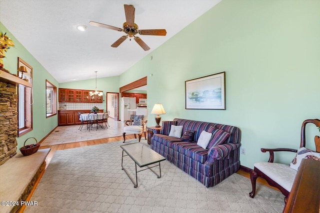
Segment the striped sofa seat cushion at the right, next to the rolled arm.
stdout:
<svg viewBox="0 0 320 213">
<path fill-rule="evenodd" d="M 173 142 L 172 149 L 202 164 L 208 156 L 208 149 L 203 149 L 195 143 Z"/>
</svg>

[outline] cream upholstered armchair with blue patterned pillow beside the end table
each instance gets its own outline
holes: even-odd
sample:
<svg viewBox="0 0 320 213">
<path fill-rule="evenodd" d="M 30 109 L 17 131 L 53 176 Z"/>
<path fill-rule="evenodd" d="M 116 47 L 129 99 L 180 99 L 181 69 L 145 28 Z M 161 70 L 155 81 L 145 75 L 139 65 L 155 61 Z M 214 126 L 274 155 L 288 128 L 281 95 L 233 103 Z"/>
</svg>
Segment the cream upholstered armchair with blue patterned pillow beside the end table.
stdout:
<svg viewBox="0 0 320 213">
<path fill-rule="evenodd" d="M 141 140 L 142 134 L 146 140 L 146 123 L 148 118 L 148 109 L 147 108 L 137 108 L 135 115 L 132 115 L 130 120 L 125 122 L 123 128 L 123 143 L 125 142 L 125 134 L 134 134 L 134 138 L 138 135 L 139 142 Z"/>
</svg>

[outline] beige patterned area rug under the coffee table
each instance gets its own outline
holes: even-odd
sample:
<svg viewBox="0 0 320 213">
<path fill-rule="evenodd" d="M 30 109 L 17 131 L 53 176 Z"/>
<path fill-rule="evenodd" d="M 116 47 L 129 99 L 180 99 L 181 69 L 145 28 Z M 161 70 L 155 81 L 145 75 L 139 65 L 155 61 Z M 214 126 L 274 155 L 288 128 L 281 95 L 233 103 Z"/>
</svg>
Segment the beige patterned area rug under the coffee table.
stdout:
<svg viewBox="0 0 320 213">
<path fill-rule="evenodd" d="M 128 143 L 137 142 L 135 139 Z M 141 140 L 146 144 L 145 140 Z M 168 161 L 157 179 L 149 170 L 138 173 L 138 187 L 121 170 L 122 142 L 56 151 L 26 213 L 281 213 L 281 193 L 257 184 L 249 198 L 250 180 L 233 174 L 218 185 L 204 187 Z M 147 145 L 146 145 L 147 146 Z M 134 163 L 124 157 L 134 177 Z M 153 168 L 158 172 L 157 167 Z"/>
</svg>

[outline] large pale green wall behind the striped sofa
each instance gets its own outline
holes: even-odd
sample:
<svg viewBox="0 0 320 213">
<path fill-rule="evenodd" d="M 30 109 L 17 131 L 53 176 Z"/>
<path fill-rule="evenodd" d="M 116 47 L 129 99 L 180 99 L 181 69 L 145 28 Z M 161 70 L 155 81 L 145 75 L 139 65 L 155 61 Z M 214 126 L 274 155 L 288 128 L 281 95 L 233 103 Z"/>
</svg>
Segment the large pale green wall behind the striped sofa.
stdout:
<svg viewBox="0 0 320 213">
<path fill-rule="evenodd" d="M 184 81 L 221 71 L 226 110 L 185 110 Z M 320 118 L 320 1 L 222 0 L 120 75 L 120 86 L 143 76 L 149 112 L 160 102 L 162 121 L 239 127 L 241 165 L 253 168 L 268 159 L 261 147 L 298 148 L 303 120 Z M 307 129 L 312 144 L 319 132 Z M 275 157 L 289 163 L 293 155 Z"/>
</svg>

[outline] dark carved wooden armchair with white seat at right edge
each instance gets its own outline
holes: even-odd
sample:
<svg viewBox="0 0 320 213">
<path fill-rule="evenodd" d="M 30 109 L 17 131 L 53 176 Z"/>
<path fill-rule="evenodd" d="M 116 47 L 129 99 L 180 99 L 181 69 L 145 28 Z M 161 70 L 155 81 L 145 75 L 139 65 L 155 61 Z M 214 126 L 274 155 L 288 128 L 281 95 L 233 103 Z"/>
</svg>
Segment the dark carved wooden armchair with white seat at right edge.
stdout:
<svg viewBox="0 0 320 213">
<path fill-rule="evenodd" d="M 309 119 L 302 123 L 301 127 L 301 140 L 300 148 L 305 147 L 305 125 L 307 123 L 313 123 L 320 130 L 320 120 L 319 119 Z M 316 153 L 320 153 L 320 137 L 314 137 Z M 261 152 L 269 152 L 269 160 L 266 163 L 255 163 L 254 169 L 250 174 L 252 192 L 249 193 L 250 198 L 254 198 L 255 195 L 255 184 L 256 179 L 261 177 L 266 180 L 266 182 L 277 189 L 284 195 L 284 202 L 286 203 L 287 197 L 291 191 L 294 178 L 296 175 L 296 170 L 290 168 L 289 165 L 273 163 L 274 152 L 285 151 L 285 152 L 297 152 L 296 149 L 289 148 L 275 148 L 275 149 L 265 149 L 261 148 Z M 297 153 L 299 154 L 299 153 Z"/>
</svg>

